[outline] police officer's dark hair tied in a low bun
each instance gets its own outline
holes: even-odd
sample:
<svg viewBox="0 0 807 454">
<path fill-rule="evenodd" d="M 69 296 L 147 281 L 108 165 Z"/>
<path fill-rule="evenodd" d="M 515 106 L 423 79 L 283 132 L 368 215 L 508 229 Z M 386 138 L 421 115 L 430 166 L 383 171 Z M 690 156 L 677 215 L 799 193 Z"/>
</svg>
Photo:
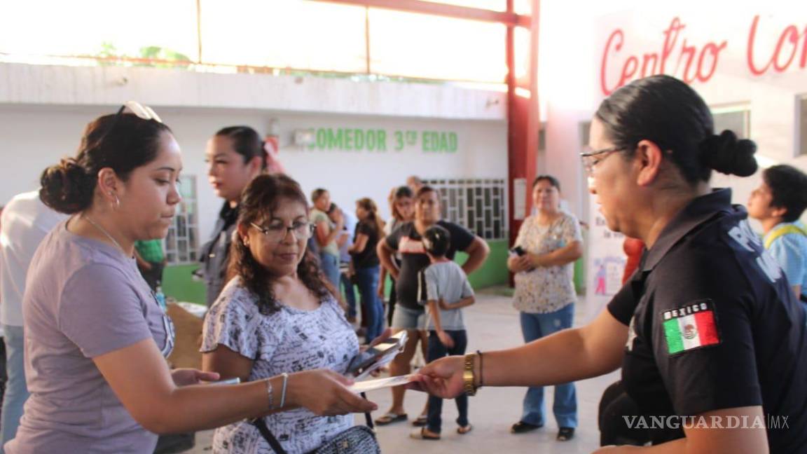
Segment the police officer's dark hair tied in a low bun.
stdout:
<svg viewBox="0 0 807 454">
<path fill-rule="evenodd" d="M 712 170 L 748 176 L 757 170 L 756 145 L 734 132 L 714 133 L 712 112 L 700 95 L 667 75 L 630 82 L 600 104 L 596 118 L 614 145 L 633 156 L 642 140 L 671 155 L 684 179 L 708 182 Z"/>
</svg>

